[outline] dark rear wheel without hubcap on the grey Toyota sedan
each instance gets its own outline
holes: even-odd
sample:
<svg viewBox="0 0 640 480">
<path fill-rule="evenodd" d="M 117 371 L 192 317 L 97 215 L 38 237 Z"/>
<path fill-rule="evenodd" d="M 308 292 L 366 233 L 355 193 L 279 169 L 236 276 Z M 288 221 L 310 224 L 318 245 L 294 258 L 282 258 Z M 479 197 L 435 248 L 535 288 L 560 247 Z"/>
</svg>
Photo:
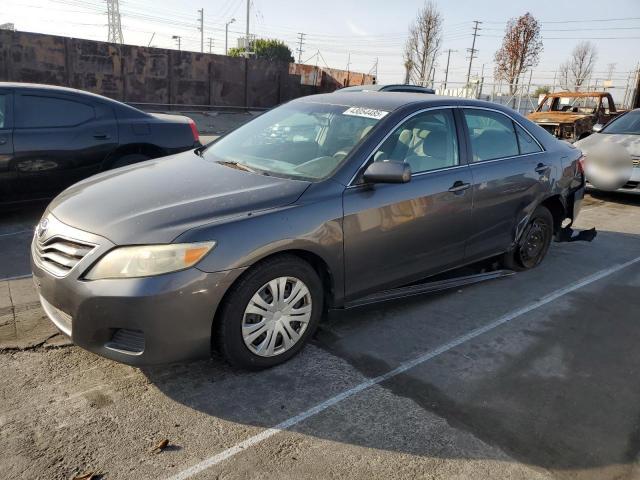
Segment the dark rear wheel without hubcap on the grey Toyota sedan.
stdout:
<svg viewBox="0 0 640 480">
<path fill-rule="evenodd" d="M 503 266 L 515 271 L 537 267 L 549 251 L 552 238 L 553 216 L 546 207 L 539 206 L 531 215 L 515 248 L 504 254 Z"/>
</svg>

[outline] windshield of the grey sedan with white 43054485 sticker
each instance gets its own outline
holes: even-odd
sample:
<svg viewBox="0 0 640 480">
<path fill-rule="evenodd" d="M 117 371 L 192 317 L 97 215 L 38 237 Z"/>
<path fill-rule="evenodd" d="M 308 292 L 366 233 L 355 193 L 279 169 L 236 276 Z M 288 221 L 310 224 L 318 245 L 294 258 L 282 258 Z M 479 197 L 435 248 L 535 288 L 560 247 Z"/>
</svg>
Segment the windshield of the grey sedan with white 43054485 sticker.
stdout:
<svg viewBox="0 0 640 480">
<path fill-rule="evenodd" d="M 362 107 L 291 103 L 234 130 L 202 156 L 258 173 L 320 180 L 330 176 L 386 114 Z"/>
</svg>

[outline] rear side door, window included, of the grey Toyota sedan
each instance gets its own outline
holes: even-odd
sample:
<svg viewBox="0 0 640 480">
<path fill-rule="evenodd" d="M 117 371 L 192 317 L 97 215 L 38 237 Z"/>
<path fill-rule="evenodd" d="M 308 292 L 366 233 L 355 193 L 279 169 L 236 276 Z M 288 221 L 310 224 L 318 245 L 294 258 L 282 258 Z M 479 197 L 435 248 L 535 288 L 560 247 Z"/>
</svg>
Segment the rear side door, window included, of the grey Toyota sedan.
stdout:
<svg viewBox="0 0 640 480">
<path fill-rule="evenodd" d="M 551 168 L 541 145 L 508 115 L 464 108 L 473 176 L 473 215 L 466 248 L 472 261 L 510 248 L 550 189 Z"/>
</svg>

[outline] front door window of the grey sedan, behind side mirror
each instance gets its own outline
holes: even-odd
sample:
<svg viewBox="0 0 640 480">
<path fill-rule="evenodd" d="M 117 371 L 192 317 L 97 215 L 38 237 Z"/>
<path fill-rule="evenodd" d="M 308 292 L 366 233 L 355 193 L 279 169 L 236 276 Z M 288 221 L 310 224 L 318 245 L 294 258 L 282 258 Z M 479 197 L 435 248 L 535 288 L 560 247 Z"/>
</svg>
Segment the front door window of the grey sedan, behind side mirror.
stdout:
<svg viewBox="0 0 640 480">
<path fill-rule="evenodd" d="M 400 125 L 373 155 L 376 162 L 397 160 L 412 173 L 458 165 L 458 140 L 451 110 L 420 113 Z"/>
</svg>

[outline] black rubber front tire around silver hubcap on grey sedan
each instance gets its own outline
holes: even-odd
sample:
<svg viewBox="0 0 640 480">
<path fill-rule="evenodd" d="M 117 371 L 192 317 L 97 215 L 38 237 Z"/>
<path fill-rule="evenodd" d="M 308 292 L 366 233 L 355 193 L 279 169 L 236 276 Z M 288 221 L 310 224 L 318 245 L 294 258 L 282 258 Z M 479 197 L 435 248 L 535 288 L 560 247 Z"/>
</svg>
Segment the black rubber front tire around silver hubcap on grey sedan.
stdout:
<svg viewBox="0 0 640 480">
<path fill-rule="evenodd" d="M 266 284 L 280 277 L 299 279 L 311 297 L 311 315 L 306 329 L 292 347 L 274 356 L 259 356 L 249 350 L 242 334 L 245 309 L 252 297 Z M 286 362 L 313 336 L 323 311 L 324 292 L 316 271 L 294 255 L 280 255 L 258 263 L 229 290 L 213 329 L 214 345 L 230 364 L 248 370 L 261 370 Z M 273 334 L 276 336 L 277 334 Z M 258 340 L 256 340 L 259 342 Z M 281 338 L 281 345 L 284 339 Z"/>
</svg>

